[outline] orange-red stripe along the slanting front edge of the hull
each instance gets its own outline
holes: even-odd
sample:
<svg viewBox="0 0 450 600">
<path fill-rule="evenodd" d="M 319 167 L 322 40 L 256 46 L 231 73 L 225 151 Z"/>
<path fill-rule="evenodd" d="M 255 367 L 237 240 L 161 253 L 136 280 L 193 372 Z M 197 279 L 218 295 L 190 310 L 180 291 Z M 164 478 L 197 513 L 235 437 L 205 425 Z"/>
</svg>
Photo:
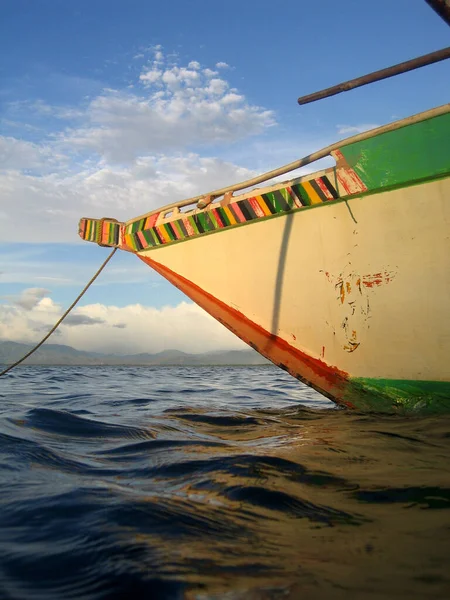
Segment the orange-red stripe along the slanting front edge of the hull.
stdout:
<svg viewBox="0 0 450 600">
<path fill-rule="evenodd" d="M 282 338 L 266 331 L 238 310 L 231 308 L 168 267 L 146 256 L 139 254 L 137 256 L 274 364 L 331 400 L 352 407 L 344 400 L 345 390 L 348 387 L 347 373 L 293 348 Z"/>
</svg>

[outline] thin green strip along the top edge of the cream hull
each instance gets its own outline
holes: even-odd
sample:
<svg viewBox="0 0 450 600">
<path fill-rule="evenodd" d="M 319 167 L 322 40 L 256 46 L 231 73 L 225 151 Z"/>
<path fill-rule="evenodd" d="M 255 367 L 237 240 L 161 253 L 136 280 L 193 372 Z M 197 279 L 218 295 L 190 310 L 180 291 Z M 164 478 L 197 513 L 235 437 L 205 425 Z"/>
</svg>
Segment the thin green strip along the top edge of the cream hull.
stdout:
<svg viewBox="0 0 450 600">
<path fill-rule="evenodd" d="M 361 192 L 354 196 L 343 196 L 341 198 L 337 198 L 336 200 L 328 200 L 327 202 L 320 202 L 318 204 L 311 204 L 309 206 L 302 206 L 301 208 L 293 208 L 292 210 L 286 212 L 275 213 L 273 215 L 267 215 L 265 217 L 259 217 L 258 219 L 252 219 L 251 221 L 245 221 L 244 223 L 236 223 L 235 225 L 228 225 L 227 227 L 222 227 L 221 229 L 214 229 L 212 231 L 205 231 L 204 233 L 197 233 L 194 236 L 185 237 L 182 240 L 175 240 L 170 242 L 170 244 L 159 244 L 158 246 L 150 246 L 149 248 L 144 248 L 144 250 L 140 250 L 139 252 L 148 252 L 153 250 L 160 250 L 163 248 L 167 248 L 169 245 L 173 246 L 174 244 L 183 244 L 184 242 L 189 242 L 190 240 L 197 240 L 200 237 L 205 237 L 207 235 L 213 235 L 215 233 L 222 233 L 226 231 L 231 231 L 237 227 L 246 227 L 247 225 L 254 225 L 256 223 L 261 223 L 262 221 L 267 221 L 269 219 L 277 219 L 280 217 L 286 217 L 287 215 L 291 215 L 297 212 L 303 212 L 306 210 L 314 210 L 316 208 L 322 208 L 326 206 L 336 206 L 337 204 L 343 204 L 345 202 L 350 202 L 353 200 L 361 200 L 367 196 L 375 196 L 377 194 L 384 194 L 385 192 L 391 192 L 394 190 L 399 190 L 407 187 L 414 187 L 416 185 L 421 185 L 423 183 L 433 183 L 433 181 L 439 181 L 441 179 L 445 179 L 448 175 L 440 175 L 438 177 L 425 178 L 420 181 L 414 181 L 413 183 L 401 183 L 398 185 L 393 185 L 391 187 L 386 187 L 381 190 L 368 190 L 367 192 Z M 226 216 L 226 215 L 225 215 Z M 192 217 L 191 217 L 192 219 Z M 228 219 L 227 219 L 228 220 Z M 194 224 L 195 225 L 195 224 Z M 197 227 L 194 227 L 195 231 L 198 232 Z"/>
</svg>

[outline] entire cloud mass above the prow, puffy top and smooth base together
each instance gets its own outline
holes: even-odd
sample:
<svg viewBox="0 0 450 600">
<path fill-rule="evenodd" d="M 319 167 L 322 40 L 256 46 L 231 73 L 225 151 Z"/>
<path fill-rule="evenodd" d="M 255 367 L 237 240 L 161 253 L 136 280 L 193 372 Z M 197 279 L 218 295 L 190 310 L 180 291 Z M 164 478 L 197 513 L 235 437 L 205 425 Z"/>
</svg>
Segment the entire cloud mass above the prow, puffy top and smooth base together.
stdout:
<svg viewBox="0 0 450 600">
<path fill-rule="evenodd" d="M 75 242 L 82 216 L 127 220 L 254 174 L 199 147 L 265 131 L 272 112 L 198 61 L 149 50 L 138 93 L 104 90 L 76 107 L 14 103 L 15 122 L 37 116 L 59 130 L 40 142 L 0 138 L 3 242 Z"/>
</svg>

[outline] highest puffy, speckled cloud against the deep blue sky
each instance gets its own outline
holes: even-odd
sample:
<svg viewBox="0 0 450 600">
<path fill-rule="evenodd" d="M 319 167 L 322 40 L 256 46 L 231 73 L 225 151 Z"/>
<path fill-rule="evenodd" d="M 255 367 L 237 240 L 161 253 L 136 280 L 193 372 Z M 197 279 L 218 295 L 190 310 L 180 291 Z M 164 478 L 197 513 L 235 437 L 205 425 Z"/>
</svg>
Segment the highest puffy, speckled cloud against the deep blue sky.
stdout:
<svg viewBox="0 0 450 600">
<path fill-rule="evenodd" d="M 274 125 L 272 111 L 250 105 L 211 69 L 169 63 L 160 50 L 139 80 L 140 94 L 104 91 L 86 108 L 85 123 L 61 132 L 67 148 L 93 151 L 109 162 L 232 142 Z"/>
</svg>

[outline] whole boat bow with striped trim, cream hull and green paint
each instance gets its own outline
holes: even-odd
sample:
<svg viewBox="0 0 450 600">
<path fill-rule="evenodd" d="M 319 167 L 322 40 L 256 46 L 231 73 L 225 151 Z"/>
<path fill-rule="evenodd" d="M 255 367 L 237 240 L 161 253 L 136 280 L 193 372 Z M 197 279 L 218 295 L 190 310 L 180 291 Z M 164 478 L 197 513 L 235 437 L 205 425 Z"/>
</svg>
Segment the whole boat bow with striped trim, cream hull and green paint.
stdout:
<svg viewBox="0 0 450 600">
<path fill-rule="evenodd" d="M 79 235 L 136 254 L 339 405 L 450 410 L 450 104 Z"/>
</svg>

